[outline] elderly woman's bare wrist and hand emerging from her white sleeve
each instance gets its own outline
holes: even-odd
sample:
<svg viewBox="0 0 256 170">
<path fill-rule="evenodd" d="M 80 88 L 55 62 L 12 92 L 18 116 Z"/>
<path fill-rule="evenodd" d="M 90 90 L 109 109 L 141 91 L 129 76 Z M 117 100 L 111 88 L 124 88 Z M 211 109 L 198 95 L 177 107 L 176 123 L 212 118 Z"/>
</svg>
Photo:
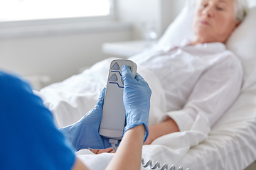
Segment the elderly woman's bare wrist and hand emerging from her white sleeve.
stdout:
<svg viewBox="0 0 256 170">
<path fill-rule="evenodd" d="M 149 137 L 147 138 L 145 145 L 151 144 L 156 138 L 167 135 L 172 132 L 179 132 L 178 125 L 173 119 L 164 121 L 157 125 L 149 126 Z"/>
</svg>

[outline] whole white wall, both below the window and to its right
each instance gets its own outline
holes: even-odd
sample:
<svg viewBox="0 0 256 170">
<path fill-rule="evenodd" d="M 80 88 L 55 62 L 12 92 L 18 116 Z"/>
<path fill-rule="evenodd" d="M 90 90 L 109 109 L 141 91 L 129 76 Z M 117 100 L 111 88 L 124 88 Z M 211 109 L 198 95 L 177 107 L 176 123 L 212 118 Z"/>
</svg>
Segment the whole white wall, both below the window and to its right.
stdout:
<svg viewBox="0 0 256 170">
<path fill-rule="evenodd" d="M 67 33 L 46 32 L 3 38 L 0 35 L 0 69 L 25 76 L 50 75 L 52 82 L 78 73 L 80 67 L 103 60 L 104 42 L 138 40 L 140 19 L 156 23 L 159 35 L 169 26 L 186 0 L 117 0 L 117 19 L 132 23 L 133 29 L 95 30 Z M 0 32 L 1 32 L 0 27 Z"/>
</svg>

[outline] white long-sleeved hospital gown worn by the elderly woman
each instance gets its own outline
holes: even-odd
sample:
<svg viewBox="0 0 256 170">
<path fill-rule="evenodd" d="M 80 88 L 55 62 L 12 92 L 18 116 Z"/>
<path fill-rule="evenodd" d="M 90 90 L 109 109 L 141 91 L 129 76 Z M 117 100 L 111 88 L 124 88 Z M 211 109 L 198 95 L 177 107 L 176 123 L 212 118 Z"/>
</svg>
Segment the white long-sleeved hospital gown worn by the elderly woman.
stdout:
<svg viewBox="0 0 256 170">
<path fill-rule="evenodd" d="M 240 94 L 242 64 L 220 42 L 184 45 L 131 59 L 159 78 L 166 114 L 180 131 L 190 130 L 198 113 L 206 115 L 212 127 Z"/>
</svg>

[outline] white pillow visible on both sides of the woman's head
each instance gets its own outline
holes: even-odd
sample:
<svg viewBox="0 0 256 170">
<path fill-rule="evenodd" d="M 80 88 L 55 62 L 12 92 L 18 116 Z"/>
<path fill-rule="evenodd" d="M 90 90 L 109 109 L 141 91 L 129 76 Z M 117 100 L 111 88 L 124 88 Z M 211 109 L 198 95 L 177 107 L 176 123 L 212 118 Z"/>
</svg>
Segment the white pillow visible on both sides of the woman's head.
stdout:
<svg viewBox="0 0 256 170">
<path fill-rule="evenodd" d="M 193 16 L 196 11 L 195 0 L 189 0 L 164 35 L 157 42 L 155 50 L 169 50 L 181 45 L 184 39 L 193 40 Z M 237 55 L 244 68 L 242 90 L 256 81 L 256 6 L 250 7 L 245 20 L 238 26 L 226 43 L 228 50 Z"/>
</svg>

